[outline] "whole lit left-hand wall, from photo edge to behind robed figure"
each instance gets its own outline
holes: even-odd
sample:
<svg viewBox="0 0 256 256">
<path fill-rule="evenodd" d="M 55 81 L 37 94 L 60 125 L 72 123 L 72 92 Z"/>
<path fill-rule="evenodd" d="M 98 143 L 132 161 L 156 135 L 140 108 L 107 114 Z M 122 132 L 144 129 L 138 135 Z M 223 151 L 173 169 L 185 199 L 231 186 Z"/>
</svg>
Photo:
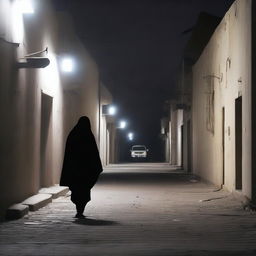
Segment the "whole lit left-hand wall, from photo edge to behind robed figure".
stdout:
<svg viewBox="0 0 256 256">
<path fill-rule="evenodd" d="M 0 27 L 0 216 L 40 187 L 59 182 L 65 140 L 81 115 L 91 119 L 96 139 L 99 131 L 97 66 L 67 17 L 57 16 L 48 0 L 33 1 L 35 11 L 26 15 L 16 3 L 5 1 L 6 24 Z M 50 59 L 49 66 L 16 67 L 24 55 L 45 47 L 48 54 L 41 56 Z M 60 69 L 66 55 L 75 60 L 71 73 Z"/>
</svg>

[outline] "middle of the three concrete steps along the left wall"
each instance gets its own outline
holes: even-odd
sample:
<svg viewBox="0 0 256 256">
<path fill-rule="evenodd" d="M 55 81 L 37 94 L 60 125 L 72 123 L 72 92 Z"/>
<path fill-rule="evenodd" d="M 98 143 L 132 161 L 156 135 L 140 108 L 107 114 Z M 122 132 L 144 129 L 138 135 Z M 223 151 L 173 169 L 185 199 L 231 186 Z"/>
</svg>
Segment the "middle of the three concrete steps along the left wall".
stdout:
<svg viewBox="0 0 256 256">
<path fill-rule="evenodd" d="M 27 205 L 30 211 L 37 211 L 38 209 L 46 206 L 52 202 L 52 195 L 50 194 L 37 194 L 29 197 L 22 202 L 23 205 Z"/>
</svg>

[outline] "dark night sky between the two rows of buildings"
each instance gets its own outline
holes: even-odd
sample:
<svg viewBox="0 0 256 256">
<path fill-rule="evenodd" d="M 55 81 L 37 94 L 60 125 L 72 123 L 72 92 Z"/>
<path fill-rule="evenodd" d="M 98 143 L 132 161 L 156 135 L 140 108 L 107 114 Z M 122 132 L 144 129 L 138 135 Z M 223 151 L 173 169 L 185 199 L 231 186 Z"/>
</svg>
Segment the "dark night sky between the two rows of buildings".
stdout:
<svg viewBox="0 0 256 256">
<path fill-rule="evenodd" d="M 68 11 L 77 34 L 96 60 L 118 115 L 145 144 L 150 160 L 161 161 L 160 118 L 175 98 L 184 46 L 200 12 L 223 17 L 233 0 L 54 0 Z M 124 140 L 122 148 L 128 152 Z M 127 145 L 127 146 L 125 146 Z M 123 156 L 123 160 L 125 157 Z"/>
</svg>

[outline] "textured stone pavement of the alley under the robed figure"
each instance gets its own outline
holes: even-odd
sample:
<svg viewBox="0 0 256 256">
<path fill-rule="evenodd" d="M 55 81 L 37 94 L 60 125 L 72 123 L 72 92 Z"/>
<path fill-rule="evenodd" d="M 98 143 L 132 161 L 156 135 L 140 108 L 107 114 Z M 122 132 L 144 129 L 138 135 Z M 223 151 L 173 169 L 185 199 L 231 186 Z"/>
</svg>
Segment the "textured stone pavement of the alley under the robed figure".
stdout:
<svg viewBox="0 0 256 256">
<path fill-rule="evenodd" d="M 216 189 L 166 165 L 112 166 L 86 220 L 68 195 L 55 199 L 0 224 L 0 255 L 256 255 L 255 212 Z"/>
</svg>

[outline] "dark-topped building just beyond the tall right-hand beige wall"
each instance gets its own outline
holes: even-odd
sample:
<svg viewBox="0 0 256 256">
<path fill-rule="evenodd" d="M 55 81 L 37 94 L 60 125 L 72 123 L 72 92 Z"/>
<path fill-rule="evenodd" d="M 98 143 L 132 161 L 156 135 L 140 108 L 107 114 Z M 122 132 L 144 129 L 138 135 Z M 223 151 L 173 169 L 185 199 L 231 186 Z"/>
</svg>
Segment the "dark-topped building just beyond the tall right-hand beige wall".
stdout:
<svg viewBox="0 0 256 256">
<path fill-rule="evenodd" d="M 177 80 L 177 95 L 170 101 L 170 163 L 191 171 L 191 105 L 192 67 L 209 42 L 221 19 L 208 13 L 200 13 L 196 24 L 185 31 L 190 38 L 184 49 Z"/>
</svg>

